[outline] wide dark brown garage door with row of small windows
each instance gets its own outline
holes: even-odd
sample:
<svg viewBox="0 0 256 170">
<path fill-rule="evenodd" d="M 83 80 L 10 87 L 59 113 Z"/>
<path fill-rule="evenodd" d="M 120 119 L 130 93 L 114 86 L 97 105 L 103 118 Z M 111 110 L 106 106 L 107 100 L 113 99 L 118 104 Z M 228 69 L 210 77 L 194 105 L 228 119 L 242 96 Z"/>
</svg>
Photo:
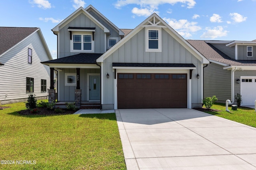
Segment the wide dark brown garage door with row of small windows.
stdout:
<svg viewBox="0 0 256 170">
<path fill-rule="evenodd" d="M 187 74 L 118 73 L 118 109 L 187 108 Z"/>
</svg>

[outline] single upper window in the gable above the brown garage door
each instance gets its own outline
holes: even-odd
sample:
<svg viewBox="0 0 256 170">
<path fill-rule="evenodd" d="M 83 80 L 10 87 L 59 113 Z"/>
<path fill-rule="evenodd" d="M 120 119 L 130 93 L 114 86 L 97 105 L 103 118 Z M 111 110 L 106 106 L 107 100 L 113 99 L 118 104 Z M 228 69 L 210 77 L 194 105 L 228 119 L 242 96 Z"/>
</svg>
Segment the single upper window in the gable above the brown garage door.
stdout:
<svg viewBox="0 0 256 170">
<path fill-rule="evenodd" d="M 161 29 L 146 29 L 146 51 L 147 52 L 161 52 Z"/>
</svg>

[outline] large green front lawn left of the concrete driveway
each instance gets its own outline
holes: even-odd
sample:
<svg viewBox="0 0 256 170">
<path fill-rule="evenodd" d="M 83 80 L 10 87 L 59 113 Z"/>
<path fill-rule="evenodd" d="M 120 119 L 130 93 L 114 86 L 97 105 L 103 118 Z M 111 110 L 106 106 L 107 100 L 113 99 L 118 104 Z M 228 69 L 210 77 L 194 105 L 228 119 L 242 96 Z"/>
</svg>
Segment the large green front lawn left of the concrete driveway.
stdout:
<svg viewBox="0 0 256 170">
<path fill-rule="evenodd" d="M 114 113 L 24 116 L 24 103 L 2 106 L 10 108 L 0 110 L 0 160 L 15 164 L 0 169 L 126 169 Z"/>
</svg>

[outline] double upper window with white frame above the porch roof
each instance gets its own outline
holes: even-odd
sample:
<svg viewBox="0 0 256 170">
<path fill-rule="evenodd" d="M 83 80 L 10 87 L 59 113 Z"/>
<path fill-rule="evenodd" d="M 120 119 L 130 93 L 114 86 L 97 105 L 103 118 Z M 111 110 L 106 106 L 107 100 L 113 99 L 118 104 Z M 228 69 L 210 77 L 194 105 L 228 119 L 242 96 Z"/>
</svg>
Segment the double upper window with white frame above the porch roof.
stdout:
<svg viewBox="0 0 256 170">
<path fill-rule="evenodd" d="M 74 33 L 72 35 L 71 42 L 71 52 L 94 52 L 94 41 L 92 39 L 92 32 Z"/>
</svg>

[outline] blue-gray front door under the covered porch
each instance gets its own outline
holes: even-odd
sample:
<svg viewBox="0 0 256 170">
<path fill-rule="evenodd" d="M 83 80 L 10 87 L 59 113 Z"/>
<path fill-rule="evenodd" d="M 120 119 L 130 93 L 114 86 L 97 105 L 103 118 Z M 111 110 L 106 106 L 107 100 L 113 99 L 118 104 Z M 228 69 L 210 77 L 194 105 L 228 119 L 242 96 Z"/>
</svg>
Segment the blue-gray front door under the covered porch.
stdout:
<svg viewBox="0 0 256 170">
<path fill-rule="evenodd" d="M 89 76 L 89 100 L 100 100 L 100 76 Z"/>
</svg>

